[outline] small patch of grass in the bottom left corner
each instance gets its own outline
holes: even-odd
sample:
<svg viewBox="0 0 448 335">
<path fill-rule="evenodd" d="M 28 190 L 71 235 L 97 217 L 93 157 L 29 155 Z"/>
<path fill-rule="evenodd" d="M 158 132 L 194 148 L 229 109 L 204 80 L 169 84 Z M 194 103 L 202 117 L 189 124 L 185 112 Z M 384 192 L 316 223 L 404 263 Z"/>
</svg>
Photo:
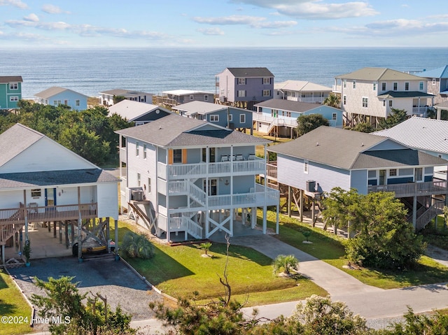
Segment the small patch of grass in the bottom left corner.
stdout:
<svg viewBox="0 0 448 335">
<path fill-rule="evenodd" d="M 22 324 L 1 322 L 0 335 L 26 334 L 33 331 L 29 327 L 31 308 L 8 273 L 3 270 L 0 270 L 0 316 L 22 317 L 24 321 L 27 318 L 27 322 Z"/>
</svg>

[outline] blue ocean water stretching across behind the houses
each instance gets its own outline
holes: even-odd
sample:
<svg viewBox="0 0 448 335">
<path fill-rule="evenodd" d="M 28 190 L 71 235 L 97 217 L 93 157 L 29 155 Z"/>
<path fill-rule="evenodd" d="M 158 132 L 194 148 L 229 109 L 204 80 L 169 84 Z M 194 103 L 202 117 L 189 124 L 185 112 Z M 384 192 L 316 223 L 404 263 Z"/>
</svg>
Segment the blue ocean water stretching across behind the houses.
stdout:
<svg viewBox="0 0 448 335">
<path fill-rule="evenodd" d="M 215 92 L 227 67 L 264 66 L 276 83 L 308 80 L 331 87 L 334 78 L 365 66 L 423 71 L 448 64 L 448 48 L 151 48 L 0 50 L 0 76 L 22 76 L 30 99 L 51 86 L 99 96 L 124 88 Z"/>
</svg>

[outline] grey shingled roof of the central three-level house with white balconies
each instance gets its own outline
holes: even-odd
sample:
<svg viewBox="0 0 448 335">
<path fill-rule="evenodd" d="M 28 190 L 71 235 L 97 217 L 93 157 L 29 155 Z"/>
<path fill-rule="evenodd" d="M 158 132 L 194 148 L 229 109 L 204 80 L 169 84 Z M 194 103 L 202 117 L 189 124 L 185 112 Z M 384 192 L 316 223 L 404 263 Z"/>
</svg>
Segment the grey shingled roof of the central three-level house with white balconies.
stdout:
<svg viewBox="0 0 448 335">
<path fill-rule="evenodd" d="M 176 114 L 142 124 L 139 127 L 118 130 L 116 133 L 162 147 L 186 147 L 202 144 L 260 145 L 270 142 L 263 138 L 243 134 L 239 131 L 225 129 L 206 121 L 181 117 Z"/>
</svg>

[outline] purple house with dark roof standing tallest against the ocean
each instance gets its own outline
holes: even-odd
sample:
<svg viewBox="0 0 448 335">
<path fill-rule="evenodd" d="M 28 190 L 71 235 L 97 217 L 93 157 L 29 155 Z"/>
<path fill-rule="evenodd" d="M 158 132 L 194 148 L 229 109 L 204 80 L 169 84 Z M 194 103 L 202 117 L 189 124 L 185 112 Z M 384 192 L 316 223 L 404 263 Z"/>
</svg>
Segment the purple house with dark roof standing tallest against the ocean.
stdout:
<svg viewBox="0 0 448 335">
<path fill-rule="evenodd" d="M 265 67 L 227 68 L 216 75 L 220 104 L 253 109 L 274 98 L 274 75 Z"/>
</svg>

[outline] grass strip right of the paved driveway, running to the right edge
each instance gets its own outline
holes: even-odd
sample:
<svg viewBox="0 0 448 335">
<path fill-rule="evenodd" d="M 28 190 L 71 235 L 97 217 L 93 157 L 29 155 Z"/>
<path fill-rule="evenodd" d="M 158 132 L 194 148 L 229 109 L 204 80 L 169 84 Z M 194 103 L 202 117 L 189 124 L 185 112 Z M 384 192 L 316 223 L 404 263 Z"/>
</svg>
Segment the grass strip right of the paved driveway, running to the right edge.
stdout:
<svg viewBox="0 0 448 335">
<path fill-rule="evenodd" d="M 274 229 L 275 213 L 269 212 L 268 227 Z M 302 231 L 311 232 L 309 241 L 312 241 L 312 244 L 302 243 L 306 239 Z M 295 218 L 288 218 L 287 215 L 281 215 L 279 233 L 279 236 L 276 236 L 279 240 L 322 259 L 367 285 L 390 289 L 448 281 L 448 268 L 426 256 L 421 257 L 415 269 L 408 271 L 345 269 L 343 266 L 348 263 L 348 260 L 344 256 L 343 238 L 334 236 L 320 228 L 313 228 L 310 224 L 301 223 Z"/>
</svg>

